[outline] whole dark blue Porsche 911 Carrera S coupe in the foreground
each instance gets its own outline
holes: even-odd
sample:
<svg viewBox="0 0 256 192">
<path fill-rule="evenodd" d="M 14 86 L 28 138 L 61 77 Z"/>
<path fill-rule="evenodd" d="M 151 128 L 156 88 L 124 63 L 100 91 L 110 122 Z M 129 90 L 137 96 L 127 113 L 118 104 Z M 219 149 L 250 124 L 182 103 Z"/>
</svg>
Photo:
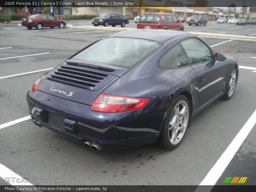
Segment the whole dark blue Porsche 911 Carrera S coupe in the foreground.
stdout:
<svg viewBox="0 0 256 192">
<path fill-rule="evenodd" d="M 196 35 L 135 29 L 100 39 L 39 77 L 28 91 L 36 125 L 93 150 L 156 140 L 176 148 L 191 118 L 230 99 L 237 60 Z"/>
</svg>

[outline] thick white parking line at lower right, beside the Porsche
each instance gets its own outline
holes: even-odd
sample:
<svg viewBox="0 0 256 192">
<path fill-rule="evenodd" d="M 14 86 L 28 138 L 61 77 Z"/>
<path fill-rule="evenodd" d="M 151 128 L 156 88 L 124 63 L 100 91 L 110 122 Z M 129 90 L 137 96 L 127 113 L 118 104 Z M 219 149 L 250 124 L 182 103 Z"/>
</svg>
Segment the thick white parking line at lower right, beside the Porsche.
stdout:
<svg viewBox="0 0 256 192">
<path fill-rule="evenodd" d="M 237 150 L 243 144 L 249 132 L 252 130 L 256 123 L 256 110 L 253 112 L 252 116 L 247 120 L 242 129 L 237 133 L 236 137 L 229 144 L 228 148 L 220 156 L 218 161 L 214 164 L 212 169 L 208 172 L 204 180 L 200 185 L 211 185 L 213 187 L 217 180 L 220 178 L 222 173 L 225 171 L 226 167 L 235 156 Z M 209 190 L 210 191 L 210 190 Z"/>
</svg>

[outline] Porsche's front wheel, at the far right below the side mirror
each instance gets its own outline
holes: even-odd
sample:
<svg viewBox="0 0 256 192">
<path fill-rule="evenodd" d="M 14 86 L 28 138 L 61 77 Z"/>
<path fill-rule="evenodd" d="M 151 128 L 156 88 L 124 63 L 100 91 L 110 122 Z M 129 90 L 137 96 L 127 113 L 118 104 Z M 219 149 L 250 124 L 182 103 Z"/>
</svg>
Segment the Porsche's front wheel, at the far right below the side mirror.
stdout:
<svg viewBox="0 0 256 192">
<path fill-rule="evenodd" d="M 236 82 L 237 82 L 237 69 L 233 67 L 228 78 L 226 92 L 223 95 L 223 99 L 230 100 L 232 98 L 235 92 Z"/>
</svg>

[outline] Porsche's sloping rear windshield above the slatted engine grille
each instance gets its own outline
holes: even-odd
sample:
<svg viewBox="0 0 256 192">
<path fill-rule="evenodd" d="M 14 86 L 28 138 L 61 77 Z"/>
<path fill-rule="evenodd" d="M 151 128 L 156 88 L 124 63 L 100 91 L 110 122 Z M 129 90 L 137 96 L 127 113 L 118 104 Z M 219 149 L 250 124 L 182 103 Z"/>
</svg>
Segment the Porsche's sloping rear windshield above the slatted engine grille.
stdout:
<svg viewBox="0 0 256 192">
<path fill-rule="evenodd" d="M 132 68 L 135 63 L 161 46 L 159 42 L 145 39 L 108 37 L 78 53 L 72 60 Z"/>
</svg>

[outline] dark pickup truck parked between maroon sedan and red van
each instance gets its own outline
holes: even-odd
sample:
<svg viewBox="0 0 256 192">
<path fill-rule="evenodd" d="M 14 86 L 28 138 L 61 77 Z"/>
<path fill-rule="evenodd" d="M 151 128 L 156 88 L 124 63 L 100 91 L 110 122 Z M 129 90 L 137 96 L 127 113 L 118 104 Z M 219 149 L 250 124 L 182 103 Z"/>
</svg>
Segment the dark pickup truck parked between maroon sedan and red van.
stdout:
<svg viewBox="0 0 256 192">
<path fill-rule="evenodd" d="M 121 25 L 121 27 L 125 27 L 125 24 L 128 23 L 128 17 L 121 17 L 119 13 L 103 13 L 100 17 L 92 19 L 93 26 L 104 25 L 108 27 L 108 25 L 112 25 L 112 27 L 116 27 L 116 25 Z"/>
</svg>

